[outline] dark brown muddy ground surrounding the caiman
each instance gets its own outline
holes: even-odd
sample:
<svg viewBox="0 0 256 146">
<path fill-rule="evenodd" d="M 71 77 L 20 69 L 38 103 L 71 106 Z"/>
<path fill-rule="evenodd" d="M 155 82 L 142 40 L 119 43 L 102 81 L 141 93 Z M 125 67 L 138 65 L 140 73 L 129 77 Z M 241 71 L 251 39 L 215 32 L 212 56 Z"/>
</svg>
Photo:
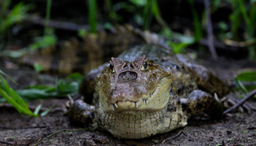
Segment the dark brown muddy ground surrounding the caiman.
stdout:
<svg viewBox="0 0 256 146">
<path fill-rule="evenodd" d="M 3 60 L 2 65 L 3 65 Z M 220 78 L 232 80 L 241 68 L 255 68 L 247 60 L 198 59 Z M 3 69 L 21 86 L 38 82 L 38 75 L 28 69 Z M 35 145 L 58 130 L 78 130 L 65 116 L 67 98 L 43 100 L 43 108 L 54 105 L 44 117 L 32 118 L 20 115 L 8 104 L 0 104 L 0 145 Z M 40 100 L 30 101 L 33 108 Z M 256 107 L 255 100 L 250 104 Z M 167 141 L 165 141 L 167 139 Z M 162 144 L 165 142 L 164 144 Z M 6 144 L 4 144 L 6 143 Z M 110 133 L 99 130 L 62 131 L 47 138 L 39 145 L 255 145 L 256 112 L 233 113 L 219 121 L 194 118 L 184 128 L 159 134 L 143 140 L 119 140 Z"/>
</svg>

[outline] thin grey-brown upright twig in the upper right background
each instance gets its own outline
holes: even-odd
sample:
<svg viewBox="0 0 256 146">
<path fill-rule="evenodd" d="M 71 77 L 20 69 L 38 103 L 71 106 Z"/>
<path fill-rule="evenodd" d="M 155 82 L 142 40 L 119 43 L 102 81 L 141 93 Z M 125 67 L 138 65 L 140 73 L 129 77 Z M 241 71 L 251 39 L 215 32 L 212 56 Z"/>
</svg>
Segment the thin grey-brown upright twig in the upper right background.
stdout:
<svg viewBox="0 0 256 146">
<path fill-rule="evenodd" d="M 206 25 L 207 25 L 207 39 L 208 39 L 208 46 L 210 49 L 210 53 L 214 59 L 217 59 L 217 53 L 213 46 L 213 26 L 212 20 L 210 16 L 210 1 L 204 0 L 205 9 L 206 9 Z"/>
</svg>

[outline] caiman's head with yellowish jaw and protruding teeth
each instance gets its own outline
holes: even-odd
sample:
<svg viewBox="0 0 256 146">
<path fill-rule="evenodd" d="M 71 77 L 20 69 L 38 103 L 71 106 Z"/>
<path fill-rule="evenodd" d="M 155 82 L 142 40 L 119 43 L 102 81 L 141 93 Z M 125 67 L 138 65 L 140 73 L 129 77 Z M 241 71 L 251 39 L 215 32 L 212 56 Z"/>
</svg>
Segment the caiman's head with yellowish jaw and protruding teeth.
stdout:
<svg viewBox="0 0 256 146">
<path fill-rule="evenodd" d="M 105 112 L 159 111 L 169 102 L 172 75 L 147 60 L 111 58 L 109 67 L 97 78 L 96 92 Z"/>
</svg>

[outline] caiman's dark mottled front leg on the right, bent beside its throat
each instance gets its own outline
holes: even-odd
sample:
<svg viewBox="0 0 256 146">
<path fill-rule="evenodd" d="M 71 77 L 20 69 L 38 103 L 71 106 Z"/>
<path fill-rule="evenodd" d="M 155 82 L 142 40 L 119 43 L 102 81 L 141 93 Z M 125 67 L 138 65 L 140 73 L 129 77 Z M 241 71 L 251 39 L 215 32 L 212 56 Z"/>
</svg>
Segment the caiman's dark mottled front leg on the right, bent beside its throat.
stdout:
<svg viewBox="0 0 256 146">
<path fill-rule="evenodd" d="M 206 112 L 213 119 L 221 119 L 223 108 L 209 93 L 202 90 L 194 90 L 186 98 L 180 99 L 183 111 L 187 115 L 196 115 L 200 112 Z"/>
</svg>

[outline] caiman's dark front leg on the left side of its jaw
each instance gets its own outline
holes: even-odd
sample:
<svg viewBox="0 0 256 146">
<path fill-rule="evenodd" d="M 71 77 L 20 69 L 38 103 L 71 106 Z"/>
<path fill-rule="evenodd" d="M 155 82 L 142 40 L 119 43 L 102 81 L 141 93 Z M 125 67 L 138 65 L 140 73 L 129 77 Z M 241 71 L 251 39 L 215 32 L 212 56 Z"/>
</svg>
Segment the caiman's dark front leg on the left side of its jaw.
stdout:
<svg viewBox="0 0 256 146">
<path fill-rule="evenodd" d="M 69 119 L 82 126 L 93 126 L 95 119 L 95 106 L 86 104 L 83 100 L 76 100 L 69 108 Z"/>
</svg>

